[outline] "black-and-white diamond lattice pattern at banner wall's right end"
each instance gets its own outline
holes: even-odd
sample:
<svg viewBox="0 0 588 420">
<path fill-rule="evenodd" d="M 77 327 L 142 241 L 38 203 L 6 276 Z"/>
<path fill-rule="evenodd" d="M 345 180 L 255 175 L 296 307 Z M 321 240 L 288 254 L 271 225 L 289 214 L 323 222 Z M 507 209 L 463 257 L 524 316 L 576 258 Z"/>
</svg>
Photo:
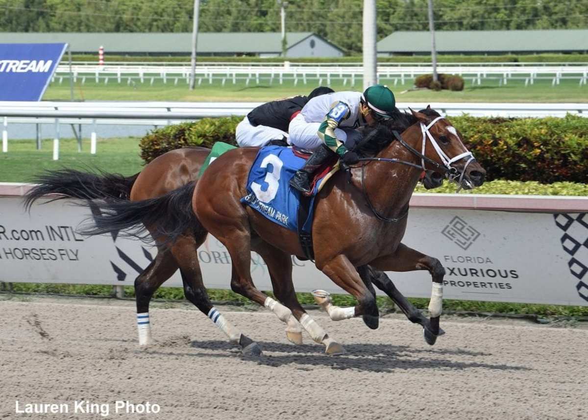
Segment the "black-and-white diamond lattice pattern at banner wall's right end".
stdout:
<svg viewBox="0 0 588 420">
<path fill-rule="evenodd" d="M 570 273 L 579 282 L 576 284 L 578 294 L 582 299 L 588 301 L 588 284 L 582 280 L 588 273 L 588 213 L 578 215 L 554 214 L 555 224 L 562 229 L 564 234 L 560 238 L 562 248 L 572 257 L 567 262 Z"/>
</svg>

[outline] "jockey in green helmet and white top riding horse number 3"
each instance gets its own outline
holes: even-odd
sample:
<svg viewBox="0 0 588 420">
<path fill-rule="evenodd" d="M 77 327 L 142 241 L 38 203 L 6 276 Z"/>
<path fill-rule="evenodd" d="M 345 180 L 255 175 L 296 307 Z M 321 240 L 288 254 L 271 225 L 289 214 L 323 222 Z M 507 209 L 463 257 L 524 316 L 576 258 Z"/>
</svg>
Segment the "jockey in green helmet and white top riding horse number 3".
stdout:
<svg viewBox="0 0 588 420">
<path fill-rule="evenodd" d="M 289 132 L 293 145 L 314 149 L 314 153 L 289 184 L 308 194 L 310 176 L 333 152 L 346 165 L 358 163 L 358 155 L 346 146 L 345 140 L 350 146 L 350 131 L 358 126 L 375 125 L 390 119 L 395 111 L 394 94 L 384 85 L 370 86 L 363 94 L 335 92 L 311 99 L 302 108 L 301 114 L 290 122 Z M 317 124 L 319 122 L 320 125 Z M 318 132 L 316 128 L 313 131 L 312 128 L 317 125 Z"/>
</svg>

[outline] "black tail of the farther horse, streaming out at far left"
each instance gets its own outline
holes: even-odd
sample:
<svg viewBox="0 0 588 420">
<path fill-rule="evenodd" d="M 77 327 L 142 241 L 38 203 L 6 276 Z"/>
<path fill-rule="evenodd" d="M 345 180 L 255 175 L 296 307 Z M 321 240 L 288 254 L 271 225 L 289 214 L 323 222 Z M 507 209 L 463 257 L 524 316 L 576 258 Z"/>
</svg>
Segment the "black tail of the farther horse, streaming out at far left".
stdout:
<svg viewBox="0 0 588 420">
<path fill-rule="evenodd" d="M 106 172 L 82 172 L 75 169 L 46 171 L 32 179 L 35 185 L 25 194 L 25 209 L 44 195 L 52 194 L 50 201 L 64 198 L 92 200 L 96 198 L 128 199 L 139 174 L 122 176 Z"/>
</svg>

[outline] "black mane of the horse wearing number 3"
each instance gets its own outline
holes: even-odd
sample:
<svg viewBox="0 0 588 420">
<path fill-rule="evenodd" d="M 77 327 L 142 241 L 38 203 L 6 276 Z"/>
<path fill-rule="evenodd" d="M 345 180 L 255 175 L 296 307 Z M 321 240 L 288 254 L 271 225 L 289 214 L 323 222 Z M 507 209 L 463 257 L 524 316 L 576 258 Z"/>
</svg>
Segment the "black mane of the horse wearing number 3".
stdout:
<svg viewBox="0 0 588 420">
<path fill-rule="evenodd" d="M 432 108 L 421 109 L 419 112 L 432 118 L 440 116 Z M 363 139 L 365 141 L 360 141 L 353 150 L 363 156 L 376 155 L 377 152 L 395 140 L 392 131 L 402 133 L 411 125 L 416 124 L 417 121 L 416 117 L 410 112 L 403 112 L 396 108 L 392 118 L 388 121 L 363 129 Z"/>
</svg>

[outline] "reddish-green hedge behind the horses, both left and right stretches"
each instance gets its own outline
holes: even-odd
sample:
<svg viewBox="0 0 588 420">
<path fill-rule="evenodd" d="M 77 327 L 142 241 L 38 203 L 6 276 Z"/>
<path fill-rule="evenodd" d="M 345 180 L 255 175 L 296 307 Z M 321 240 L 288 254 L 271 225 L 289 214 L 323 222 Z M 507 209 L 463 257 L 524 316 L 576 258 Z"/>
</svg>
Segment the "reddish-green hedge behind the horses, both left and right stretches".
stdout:
<svg viewBox="0 0 588 420">
<path fill-rule="evenodd" d="M 184 146 L 235 144 L 240 117 L 205 118 L 153 130 L 140 143 L 141 157 Z M 452 116 L 467 147 L 487 171 L 487 179 L 580 182 L 588 179 L 588 118 L 476 118 Z"/>
</svg>

